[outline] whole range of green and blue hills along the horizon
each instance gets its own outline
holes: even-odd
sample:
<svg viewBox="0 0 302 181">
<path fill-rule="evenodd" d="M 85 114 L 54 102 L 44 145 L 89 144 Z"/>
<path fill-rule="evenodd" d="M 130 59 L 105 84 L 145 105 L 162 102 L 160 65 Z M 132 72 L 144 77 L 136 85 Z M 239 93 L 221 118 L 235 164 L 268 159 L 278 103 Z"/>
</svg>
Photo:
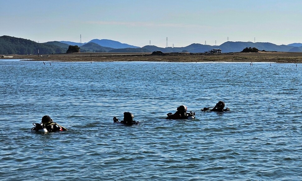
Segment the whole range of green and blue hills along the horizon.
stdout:
<svg viewBox="0 0 302 181">
<path fill-rule="evenodd" d="M 259 50 L 277 51 L 277 52 L 302 52 L 302 43 L 293 43 L 288 45 L 276 45 L 272 43 L 253 43 L 253 42 L 232 42 L 227 41 L 218 46 L 204 44 L 190 44 L 186 47 L 167 47 L 161 48 L 153 45 L 137 47 L 129 44 L 120 43 L 109 39 L 92 39 L 87 43 L 76 43 L 69 41 L 51 41 L 46 43 L 37 43 L 28 39 L 16 38 L 11 36 L 0 36 L 0 54 L 52 54 L 66 53 L 69 45 L 77 45 L 81 52 L 108 52 L 108 53 L 147 53 L 161 51 L 169 52 L 190 52 L 202 53 L 211 49 L 222 49 L 223 53 L 241 52 L 246 47 L 255 47 Z"/>
</svg>

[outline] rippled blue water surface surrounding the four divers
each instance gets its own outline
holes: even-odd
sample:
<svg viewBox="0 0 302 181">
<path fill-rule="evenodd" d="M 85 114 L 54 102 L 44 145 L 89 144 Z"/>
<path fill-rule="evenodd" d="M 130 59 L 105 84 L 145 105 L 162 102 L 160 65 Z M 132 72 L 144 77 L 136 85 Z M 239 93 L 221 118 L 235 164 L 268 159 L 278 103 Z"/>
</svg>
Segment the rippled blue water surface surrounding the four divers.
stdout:
<svg viewBox="0 0 302 181">
<path fill-rule="evenodd" d="M 302 179 L 300 64 L 45 64 L 0 60 L 0 180 Z M 44 115 L 68 131 L 31 132 Z"/>
</svg>

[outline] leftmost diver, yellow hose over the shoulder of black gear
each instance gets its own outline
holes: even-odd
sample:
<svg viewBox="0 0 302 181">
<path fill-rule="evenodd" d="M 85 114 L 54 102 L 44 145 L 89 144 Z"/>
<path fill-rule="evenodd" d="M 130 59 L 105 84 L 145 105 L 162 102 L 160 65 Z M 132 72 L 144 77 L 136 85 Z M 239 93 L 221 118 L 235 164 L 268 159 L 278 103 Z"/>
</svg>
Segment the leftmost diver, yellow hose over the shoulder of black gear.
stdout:
<svg viewBox="0 0 302 181">
<path fill-rule="evenodd" d="M 35 126 L 34 128 L 31 128 L 31 131 L 41 131 L 43 128 L 47 130 L 47 132 L 56 132 L 56 131 L 67 131 L 66 128 L 63 126 L 60 126 L 57 123 L 53 122 L 54 120 L 50 118 L 50 116 L 45 115 L 42 117 L 41 123 L 33 123 Z M 42 131 L 46 132 L 46 131 Z"/>
</svg>

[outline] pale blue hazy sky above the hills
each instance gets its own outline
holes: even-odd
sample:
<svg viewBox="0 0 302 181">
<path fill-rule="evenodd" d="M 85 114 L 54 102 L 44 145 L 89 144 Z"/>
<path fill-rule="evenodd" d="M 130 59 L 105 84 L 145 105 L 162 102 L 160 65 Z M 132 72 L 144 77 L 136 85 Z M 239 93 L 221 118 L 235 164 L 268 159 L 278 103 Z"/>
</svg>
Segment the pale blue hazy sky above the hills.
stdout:
<svg viewBox="0 0 302 181">
<path fill-rule="evenodd" d="M 0 36 L 183 47 L 302 43 L 302 0 L 0 0 Z"/>
</svg>

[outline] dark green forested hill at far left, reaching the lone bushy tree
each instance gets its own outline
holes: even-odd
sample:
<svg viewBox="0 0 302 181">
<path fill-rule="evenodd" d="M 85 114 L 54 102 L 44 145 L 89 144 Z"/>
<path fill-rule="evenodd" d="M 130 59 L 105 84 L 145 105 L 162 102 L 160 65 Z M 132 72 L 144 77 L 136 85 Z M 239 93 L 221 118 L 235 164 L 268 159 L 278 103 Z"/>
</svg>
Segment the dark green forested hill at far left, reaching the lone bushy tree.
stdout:
<svg viewBox="0 0 302 181">
<path fill-rule="evenodd" d="M 58 43 L 62 44 L 60 42 Z M 0 36 L 0 54 L 38 54 L 38 49 L 40 54 L 66 53 L 68 45 L 67 48 L 65 48 L 64 46 L 59 46 L 56 43 L 37 43 L 29 39 Z"/>
</svg>

